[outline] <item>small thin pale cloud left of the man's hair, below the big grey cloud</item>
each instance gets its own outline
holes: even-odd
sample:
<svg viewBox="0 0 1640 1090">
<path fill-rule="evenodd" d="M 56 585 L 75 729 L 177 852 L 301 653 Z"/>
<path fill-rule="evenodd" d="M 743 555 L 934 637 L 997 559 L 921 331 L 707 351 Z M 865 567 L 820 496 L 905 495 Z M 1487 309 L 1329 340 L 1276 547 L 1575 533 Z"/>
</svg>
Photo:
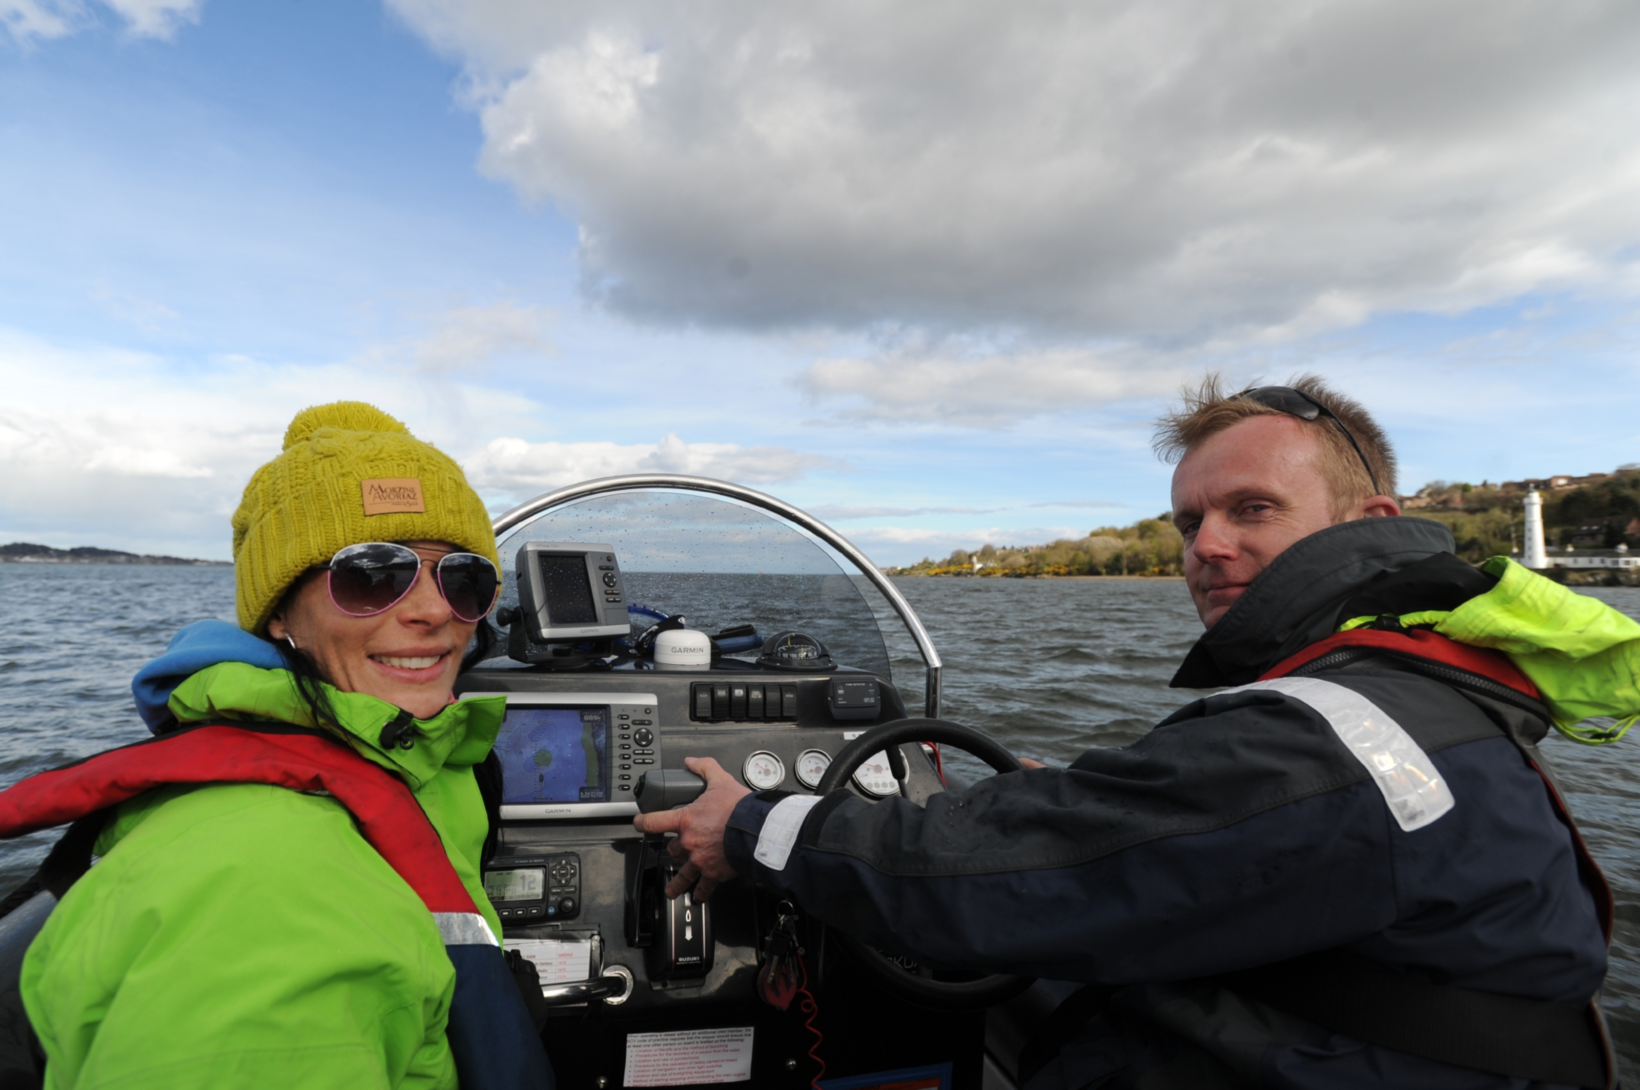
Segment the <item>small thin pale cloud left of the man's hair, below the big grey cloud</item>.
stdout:
<svg viewBox="0 0 1640 1090">
<path fill-rule="evenodd" d="M 845 416 L 994 428 L 1036 413 L 1173 393 L 1182 374 L 1178 367 L 1137 367 L 1128 359 L 1082 349 L 987 356 L 886 352 L 822 359 L 797 382 L 815 398 L 841 402 Z"/>
</svg>

